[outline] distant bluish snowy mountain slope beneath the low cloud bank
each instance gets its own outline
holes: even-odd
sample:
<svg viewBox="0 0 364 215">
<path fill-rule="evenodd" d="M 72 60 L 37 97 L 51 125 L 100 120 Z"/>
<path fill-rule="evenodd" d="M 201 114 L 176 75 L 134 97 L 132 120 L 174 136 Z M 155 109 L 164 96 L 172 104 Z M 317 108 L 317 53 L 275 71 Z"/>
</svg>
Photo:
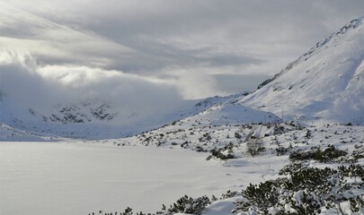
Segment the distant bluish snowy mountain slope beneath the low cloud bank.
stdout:
<svg viewBox="0 0 364 215">
<path fill-rule="evenodd" d="M 168 112 L 151 112 L 147 111 L 147 108 L 130 112 L 120 104 L 111 104 L 102 99 L 55 104 L 51 107 L 47 105 L 32 107 L 19 104 L 17 99 L 9 98 L 2 93 L 0 94 L 0 122 L 40 135 L 84 139 L 120 138 L 198 115 L 211 107 L 216 108 L 217 104 L 241 99 L 246 94 L 185 100 L 180 107 Z"/>
</svg>

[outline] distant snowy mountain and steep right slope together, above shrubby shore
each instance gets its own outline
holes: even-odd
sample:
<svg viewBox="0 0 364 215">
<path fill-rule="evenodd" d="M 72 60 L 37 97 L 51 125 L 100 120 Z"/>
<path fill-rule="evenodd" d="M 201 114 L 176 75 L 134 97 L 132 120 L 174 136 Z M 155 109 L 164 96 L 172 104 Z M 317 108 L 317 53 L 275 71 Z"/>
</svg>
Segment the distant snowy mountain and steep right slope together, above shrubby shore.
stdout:
<svg viewBox="0 0 364 215">
<path fill-rule="evenodd" d="M 125 137 L 178 120 L 191 125 L 242 125 L 278 122 L 283 117 L 362 125 L 363 22 L 360 17 L 348 23 L 251 94 L 186 100 L 167 111 L 155 111 L 130 109 L 102 98 L 33 106 L 19 103 L 3 90 L 0 121 L 31 133 L 87 139 Z"/>
</svg>

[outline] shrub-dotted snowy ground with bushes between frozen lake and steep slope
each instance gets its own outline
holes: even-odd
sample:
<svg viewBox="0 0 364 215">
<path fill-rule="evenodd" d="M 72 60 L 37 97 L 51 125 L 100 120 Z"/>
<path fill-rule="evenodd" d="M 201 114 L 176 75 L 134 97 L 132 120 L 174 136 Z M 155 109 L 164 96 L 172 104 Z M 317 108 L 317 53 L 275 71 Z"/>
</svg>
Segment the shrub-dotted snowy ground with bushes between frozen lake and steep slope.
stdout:
<svg viewBox="0 0 364 215">
<path fill-rule="evenodd" d="M 342 214 L 360 215 L 364 209 L 363 134 L 363 126 L 317 121 L 312 125 L 211 126 L 181 120 L 103 143 L 195 150 L 206 153 L 209 162 L 218 161 L 244 174 L 230 192 L 211 198 L 186 193 L 189 196 L 166 204 L 157 214 L 337 214 L 340 208 Z"/>
</svg>

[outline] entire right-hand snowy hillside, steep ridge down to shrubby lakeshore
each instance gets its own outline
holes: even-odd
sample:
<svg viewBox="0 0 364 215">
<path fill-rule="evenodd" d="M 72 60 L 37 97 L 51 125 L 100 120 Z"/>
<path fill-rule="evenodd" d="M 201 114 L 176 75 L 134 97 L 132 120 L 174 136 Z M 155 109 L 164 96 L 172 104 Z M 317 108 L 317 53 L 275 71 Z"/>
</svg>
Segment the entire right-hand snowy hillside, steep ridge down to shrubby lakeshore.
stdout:
<svg viewBox="0 0 364 215">
<path fill-rule="evenodd" d="M 355 126 L 364 119 L 363 22 L 317 43 L 252 94 L 112 140 L 209 152 L 207 160 L 245 171 L 241 192 L 182 196 L 158 214 L 363 214 L 364 130 Z"/>
</svg>

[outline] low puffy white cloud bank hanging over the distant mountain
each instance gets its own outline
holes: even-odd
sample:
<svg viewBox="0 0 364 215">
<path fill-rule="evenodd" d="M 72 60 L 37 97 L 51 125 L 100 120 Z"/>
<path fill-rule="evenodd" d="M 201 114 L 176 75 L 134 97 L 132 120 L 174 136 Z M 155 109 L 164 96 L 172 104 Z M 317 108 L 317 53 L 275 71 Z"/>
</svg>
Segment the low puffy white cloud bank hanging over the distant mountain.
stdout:
<svg viewBox="0 0 364 215">
<path fill-rule="evenodd" d="M 135 112 L 171 111 L 182 102 L 172 84 L 154 78 L 87 66 L 39 65 L 26 52 L 0 51 L 0 92 L 12 104 L 47 111 L 98 99 Z"/>
</svg>

